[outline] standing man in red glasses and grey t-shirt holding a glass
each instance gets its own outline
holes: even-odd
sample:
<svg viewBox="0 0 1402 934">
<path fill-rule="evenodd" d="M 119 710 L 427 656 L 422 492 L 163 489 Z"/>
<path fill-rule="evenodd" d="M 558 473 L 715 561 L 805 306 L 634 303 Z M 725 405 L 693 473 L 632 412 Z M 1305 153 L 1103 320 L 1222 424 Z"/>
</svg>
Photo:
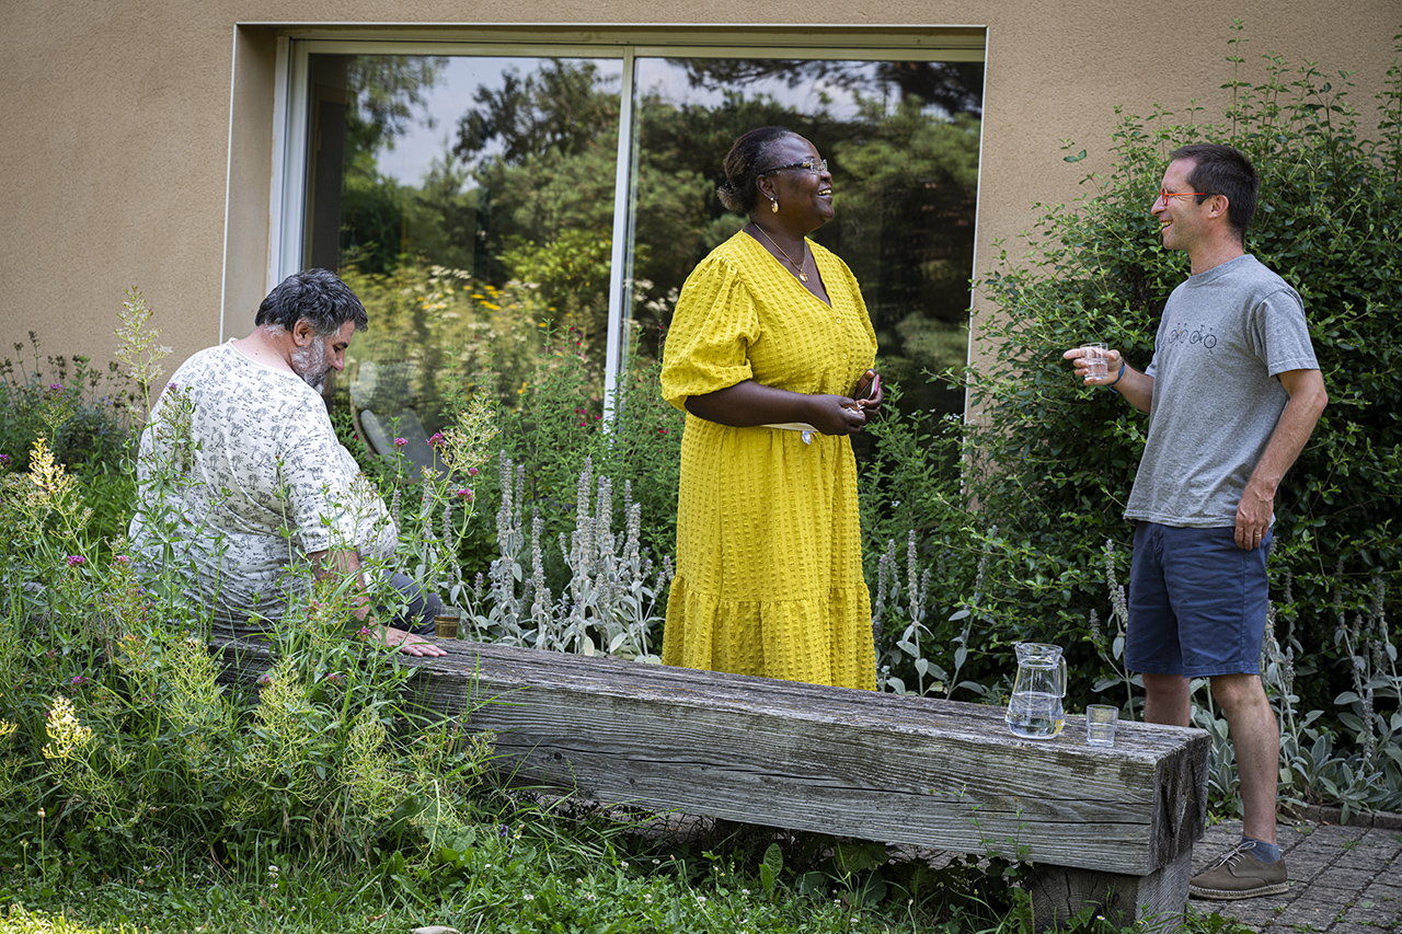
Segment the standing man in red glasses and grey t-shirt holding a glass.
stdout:
<svg viewBox="0 0 1402 934">
<path fill-rule="evenodd" d="M 1171 154 L 1152 205 L 1164 247 L 1190 278 L 1173 289 L 1144 372 L 1109 351 L 1064 358 L 1150 414 L 1124 516 L 1136 523 L 1124 662 L 1144 677 L 1144 719 L 1189 725 L 1190 679 L 1207 677 L 1231 728 L 1242 841 L 1189 892 L 1242 899 L 1286 891 L 1276 844 L 1280 729 L 1260 683 L 1266 555 L 1276 489 L 1328 402 L 1300 296 L 1245 252 L 1256 172 L 1228 146 Z"/>
</svg>

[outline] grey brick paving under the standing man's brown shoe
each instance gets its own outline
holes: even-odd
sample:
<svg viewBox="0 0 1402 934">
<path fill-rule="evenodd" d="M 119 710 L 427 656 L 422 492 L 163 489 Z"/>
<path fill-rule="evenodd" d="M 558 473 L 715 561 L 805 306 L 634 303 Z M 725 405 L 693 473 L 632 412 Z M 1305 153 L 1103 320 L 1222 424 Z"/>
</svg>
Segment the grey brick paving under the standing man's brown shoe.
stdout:
<svg viewBox="0 0 1402 934">
<path fill-rule="evenodd" d="M 1402 816 L 1361 815 L 1340 826 L 1338 811 L 1309 809 L 1281 823 L 1277 843 L 1290 889 L 1238 902 L 1193 899 L 1187 910 L 1263 934 L 1402 934 Z M 1207 830 L 1193 848 L 1199 872 L 1241 840 L 1241 822 Z"/>
</svg>

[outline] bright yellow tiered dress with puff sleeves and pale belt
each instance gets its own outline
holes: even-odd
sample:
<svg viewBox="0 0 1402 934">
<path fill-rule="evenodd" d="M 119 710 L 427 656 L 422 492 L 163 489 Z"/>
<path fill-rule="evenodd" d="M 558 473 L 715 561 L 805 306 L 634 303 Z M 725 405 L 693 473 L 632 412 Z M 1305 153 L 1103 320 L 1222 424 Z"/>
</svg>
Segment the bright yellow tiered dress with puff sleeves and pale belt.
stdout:
<svg viewBox="0 0 1402 934">
<path fill-rule="evenodd" d="M 851 395 L 876 356 L 857 279 L 809 241 L 831 306 L 737 233 L 687 278 L 667 331 L 663 397 L 754 379 Z M 677 576 L 665 665 L 876 687 L 857 461 L 845 435 L 730 428 L 687 414 Z"/>
</svg>

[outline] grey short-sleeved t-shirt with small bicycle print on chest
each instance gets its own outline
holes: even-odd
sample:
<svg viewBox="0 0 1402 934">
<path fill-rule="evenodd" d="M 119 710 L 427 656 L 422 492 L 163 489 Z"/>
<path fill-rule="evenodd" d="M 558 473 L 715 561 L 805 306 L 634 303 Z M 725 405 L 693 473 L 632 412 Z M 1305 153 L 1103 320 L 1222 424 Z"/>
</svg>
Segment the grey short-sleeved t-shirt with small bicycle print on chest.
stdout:
<svg viewBox="0 0 1402 934">
<path fill-rule="evenodd" d="M 1304 303 L 1255 257 L 1173 289 L 1145 370 L 1154 377 L 1148 443 L 1124 517 L 1187 529 L 1235 524 L 1290 400 L 1277 374 L 1316 369 Z"/>
</svg>

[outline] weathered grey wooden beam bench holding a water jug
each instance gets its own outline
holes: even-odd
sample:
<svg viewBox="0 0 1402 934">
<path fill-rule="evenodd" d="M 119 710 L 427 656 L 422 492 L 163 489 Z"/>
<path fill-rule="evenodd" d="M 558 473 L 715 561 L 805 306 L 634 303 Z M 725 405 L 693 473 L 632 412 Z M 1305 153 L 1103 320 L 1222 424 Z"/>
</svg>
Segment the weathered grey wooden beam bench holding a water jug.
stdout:
<svg viewBox="0 0 1402 934">
<path fill-rule="evenodd" d="M 467 641 L 415 661 L 418 701 L 496 733 L 502 769 L 606 805 L 1033 862 L 1035 930 L 1085 905 L 1180 916 L 1204 830 L 1206 732 L 1084 718 L 1050 740 L 1002 710 Z M 245 658 L 243 677 L 266 665 Z"/>
</svg>

